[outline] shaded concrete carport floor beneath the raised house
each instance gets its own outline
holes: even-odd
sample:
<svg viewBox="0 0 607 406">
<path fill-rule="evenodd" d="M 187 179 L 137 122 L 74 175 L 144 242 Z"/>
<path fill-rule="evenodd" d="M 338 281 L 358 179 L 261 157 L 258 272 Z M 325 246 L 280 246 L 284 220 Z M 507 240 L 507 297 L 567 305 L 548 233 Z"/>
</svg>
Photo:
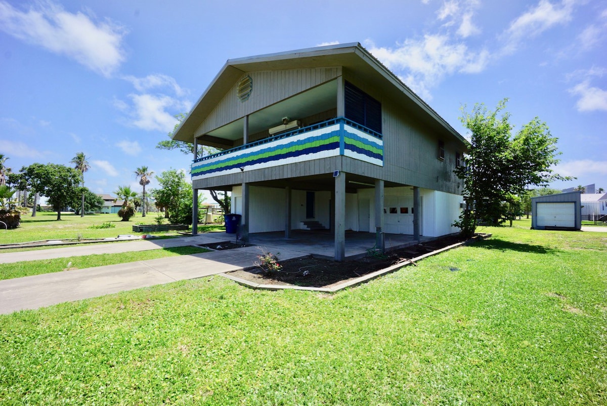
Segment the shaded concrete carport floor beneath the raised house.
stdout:
<svg viewBox="0 0 607 406">
<path fill-rule="evenodd" d="M 236 235 L 228 233 L 212 233 L 213 238 L 225 237 L 225 241 L 236 242 Z M 420 242 L 432 241 L 432 237 L 420 237 Z M 375 233 L 345 232 L 345 260 L 355 260 L 367 255 L 367 250 L 375 248 Z M 384 234 L 385 250 L 395 250 L 418 244 L 412 235 Z M 308 230 L 291 230 L 290 238 L 285 238 L 285 232 L 266 232 L 249 234 L 249 245 L 273 247 L 276 254 L 280 250 L 304 252 L 318 258 L 334 258 L 335 243 L 332 232 L 314 232 Z"/>
</svg>

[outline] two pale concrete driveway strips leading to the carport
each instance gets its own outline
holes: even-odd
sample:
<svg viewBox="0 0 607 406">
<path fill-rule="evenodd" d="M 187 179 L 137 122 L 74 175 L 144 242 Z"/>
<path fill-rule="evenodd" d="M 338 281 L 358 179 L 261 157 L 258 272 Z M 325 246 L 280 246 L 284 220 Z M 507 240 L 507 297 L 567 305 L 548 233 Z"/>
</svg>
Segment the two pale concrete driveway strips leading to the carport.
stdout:
<svg viewBox="0 0 607 406">
<path fill-rule="evenodd" d="M 182 240 L 180 243 L 175 240 Z M 210 240 L 210 241 L 209 241 Z M 196 237 L 185 237 L 175 239 L 157 240 L 155 243 L 192 245 L 217 243 L 225 239 L 210 238 L 206 235 Z M 201 242 L 202 241 L 202 242 Z M 152 241 L 137 241 L 134 243 L 112 244 L 112 246 L 127 246 L 127 244 L 152 243 Z M 130 247 L 129 250 L 159 249 L 162 246 L 151 247 L 150 244 L 141 244 Z M 164 245 L 166 246 L 166 245 Z M 177 246 L 177 245 L 172 245 Z M 110 246 L 94 246 L 105 247 Z M 94 247 L 77 247 L 78 252 L 85 252 Z M 148 247 L 148 248 L 143 248 Z M 135 249 L 132 249 L 135 248 Z M 86 249 L 86 250 L 85 250 Z M 115 247 L 111 247 L 115 249 Z M 70 247 L 68 252 L 65 249 L 41 250 L 29 253 L 44 253 L 52 251 L 52 258 L 59 258 L 59 253 L 63 256 L 88 255 L 87 252 L 75 254 L 74 248 Z M 189 280 L 202 278 L 208 275 L 220 274 L 232 270 L 239 270 L 254 266 L 257 256 L 271 251 L 269 247 L 251 246 L 231 250 L 212 251 L 198 253 L 194 255 L 172 256 L 169 258 L 159 258 L 157 260 L 138 261 L 134 263 L 116 264 L 100 266 L 87 269 L 67 270 L 55 272 L 53 274 L 35 275 L 32 277 L 8 279 L 0 281 L 0 314 L 9 314 L 22 309 L 38 309 L 45 306 L 56 305 L 65 301 L 81 300 L 108 294 L 114 294 L 140 287 L 154 286 L 157 284 L 171 283 L 178 280 Z M 124 251 L 114 251 L 124 252 Z M 27 253 L 27 252 L 25 252 Z M 15 255 L 22 253 L 8 253 L 2 255 Z M 299 256 L 308 255 L 304 252 L 293 250 L 280 250 L 280 258 L 288 260 Z M 27 260 L 41 258 L 27 258 Z M 22 259 L 23 261 L 23 259 Z M 15 261 L 12 261 L 15 262 Z"/>
</svg>

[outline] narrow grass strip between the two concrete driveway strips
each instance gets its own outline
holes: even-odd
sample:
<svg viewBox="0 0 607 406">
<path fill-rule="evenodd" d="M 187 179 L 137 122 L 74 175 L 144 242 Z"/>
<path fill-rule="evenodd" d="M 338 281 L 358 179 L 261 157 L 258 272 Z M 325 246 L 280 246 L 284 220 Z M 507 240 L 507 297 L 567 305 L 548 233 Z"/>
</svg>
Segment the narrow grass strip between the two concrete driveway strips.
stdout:
<svg viewBox="0 0 607 406">
<path fill-rule="evenodd" d="M 61 272 L 67 268 L 70 270 L 84 269 L 135 261 L 155 260 L 157 258 L 165 258 L 167 256 L 192 255 L 201 252 L 209 252 L 209 250 L 185 246 L 148 251 L 70 256 L 68 258 L 55 258 L 52 260 L 22 261 L 12 264 L 0 264 L 0 280 L 29 277 L 40 274 L 51 274 L 52 272 Z"/>
</svg>

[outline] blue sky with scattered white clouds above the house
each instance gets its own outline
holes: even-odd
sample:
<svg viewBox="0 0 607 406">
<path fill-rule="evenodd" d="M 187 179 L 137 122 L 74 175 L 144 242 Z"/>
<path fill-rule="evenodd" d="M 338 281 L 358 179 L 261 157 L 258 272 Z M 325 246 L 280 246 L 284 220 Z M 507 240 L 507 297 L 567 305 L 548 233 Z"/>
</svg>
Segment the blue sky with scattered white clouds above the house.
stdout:
<svg viewBox="0 0 607 406">
<path fill-rule="evenodd" d="M 451 125 L 504 97 L 558 137 L 556 170 L 607 188 L 607 0 L 0 0 L 0 153 L 89 157 L 87 187 L 189 168 L 155 149 L 229 58 L 360 42 Z M 151 187 L 156 182 L 153 181 Z"/>
</svg>

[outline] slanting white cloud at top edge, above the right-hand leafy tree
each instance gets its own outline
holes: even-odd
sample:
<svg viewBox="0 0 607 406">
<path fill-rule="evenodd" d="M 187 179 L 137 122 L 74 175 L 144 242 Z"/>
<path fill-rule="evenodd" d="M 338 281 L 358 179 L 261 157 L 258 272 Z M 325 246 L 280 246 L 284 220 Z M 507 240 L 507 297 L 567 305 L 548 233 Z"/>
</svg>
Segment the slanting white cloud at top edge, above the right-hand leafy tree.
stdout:
<svg viewBox="0 0 607 406">
<path fill-rule="evenodd" d="M 510 23 L 504 33 L 506 46 L 504 53 L 514 53 L 519 44 L 529 36 L 539 35 L 557 24 L 565 24 L 571 20 L 575 0 L 563 0 L 555 5 L 548 0 L 540 0 L 535 7 L 518 16 Z"/>
</svg>

